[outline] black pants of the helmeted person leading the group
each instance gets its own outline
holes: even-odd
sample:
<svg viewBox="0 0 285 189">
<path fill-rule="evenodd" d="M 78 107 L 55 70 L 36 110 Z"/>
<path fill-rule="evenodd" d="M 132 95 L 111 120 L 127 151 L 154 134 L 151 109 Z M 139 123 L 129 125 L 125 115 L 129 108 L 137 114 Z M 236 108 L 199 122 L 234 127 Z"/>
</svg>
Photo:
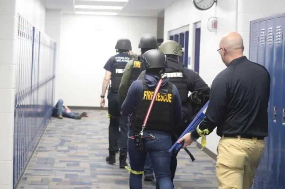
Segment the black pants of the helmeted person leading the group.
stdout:
<svg viewBox="0 0 285 189">
<path fill-rule="evenodd" d="M 122 116 L 118 108 L 118 93 L 108 93 L 108 113 L 110 114 L 109 125 L 109 149 L 118 151 L 120 154 L 127 153 L 128 116 Z"/>
</svg>

